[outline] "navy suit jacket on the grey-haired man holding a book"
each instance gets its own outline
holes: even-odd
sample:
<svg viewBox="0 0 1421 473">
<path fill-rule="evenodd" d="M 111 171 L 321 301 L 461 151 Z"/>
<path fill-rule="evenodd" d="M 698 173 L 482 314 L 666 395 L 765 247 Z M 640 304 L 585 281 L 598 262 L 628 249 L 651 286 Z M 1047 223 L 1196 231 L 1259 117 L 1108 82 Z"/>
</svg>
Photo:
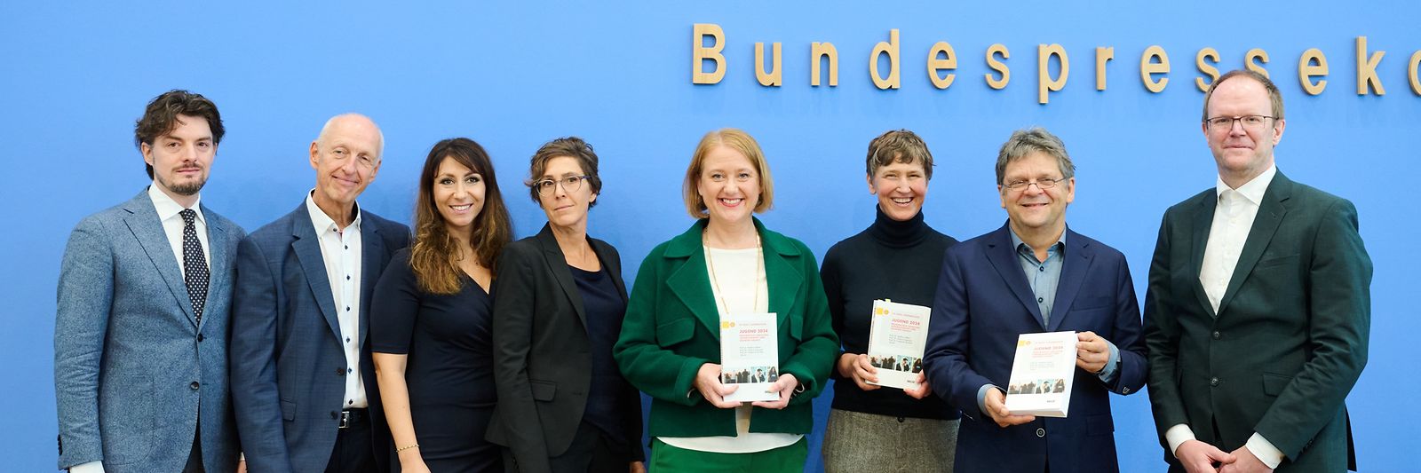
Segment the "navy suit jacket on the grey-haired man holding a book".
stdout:
<svg viewBox="0 0 1421 473">
<path fill-rule="evenodd" d="M 956 472 L 1117 472 L 1110 392 L 1145 382 L 1140 307 L 1125 257 L 1067 229 L 1050 325 L 1026 281 L 1007 226 L 962 241 L 942 260 L 924 369 L 962 409 Z M 1111 385 L 1076 369 L 1070 416 L 1000 428 L 978 408 L 982 385 L 1006 386 L 1017 334 L 1093 331 L 1120 348 Z"/>
</svg>

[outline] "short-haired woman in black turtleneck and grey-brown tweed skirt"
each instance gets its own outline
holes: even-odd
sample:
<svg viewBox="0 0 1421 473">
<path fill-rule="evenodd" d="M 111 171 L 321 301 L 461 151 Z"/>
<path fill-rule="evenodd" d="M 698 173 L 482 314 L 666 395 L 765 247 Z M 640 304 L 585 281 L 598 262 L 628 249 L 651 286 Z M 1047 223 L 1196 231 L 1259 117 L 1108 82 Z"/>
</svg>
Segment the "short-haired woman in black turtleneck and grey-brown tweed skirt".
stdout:
<svg viewBox="0 0 1421 473">
<path fill-rule="evenodd" d="M 958 411 L 918 389 L 880 388 L 868 351 L 874 300 L 932 307 L 942 253 L 958 240 L 922 222 L 932 153 L 899 129 L 868 143 L 868 190 L 878 217 L 838 241 L 820 276 L 843 352 L 834 364 L 834 405 L 824 433 L 824 470 L 952 472 Z M 921 374 L 919 374 L 921 376 Z"/>
</svg>

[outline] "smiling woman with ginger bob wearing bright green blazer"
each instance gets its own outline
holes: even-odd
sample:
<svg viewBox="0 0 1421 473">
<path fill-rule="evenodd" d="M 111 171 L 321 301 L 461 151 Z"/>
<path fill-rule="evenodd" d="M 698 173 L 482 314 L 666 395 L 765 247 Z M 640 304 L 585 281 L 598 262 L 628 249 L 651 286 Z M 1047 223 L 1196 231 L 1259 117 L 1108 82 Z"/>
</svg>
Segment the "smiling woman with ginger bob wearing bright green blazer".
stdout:
<svg viewBox="0 0 1421 473">
<path fill-rule="evenodd" d="M 612 349 L 627 381 L 654 398 L 649 469 L 801 472 L 810 399 L 838 352 L 814 254 L 753 217 L 770 207 L 773 182 L 739 129 L 701 139 L 684 197 L 698 220 L 642 261 Z M 726 401 L 750 385 L 722 376 L 722 327 L 766 312 L 777 335 L 773 401 Z"/>
</svg>

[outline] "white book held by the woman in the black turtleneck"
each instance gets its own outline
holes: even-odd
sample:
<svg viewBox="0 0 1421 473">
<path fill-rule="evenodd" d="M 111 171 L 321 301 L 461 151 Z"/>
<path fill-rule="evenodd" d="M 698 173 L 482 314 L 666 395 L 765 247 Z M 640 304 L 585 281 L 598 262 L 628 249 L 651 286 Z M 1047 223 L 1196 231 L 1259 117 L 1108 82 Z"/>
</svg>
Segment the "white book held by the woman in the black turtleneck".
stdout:
<svg viewBox="0 0 1421 473">
<path fill-rule="evenodd" d="M 918 388 L 922 351 L 928 345 L 928 315 L 922 305 L 874 301 L 868 322 L 868 362 L 878 368 L 880 386 Z"/>
</svg>

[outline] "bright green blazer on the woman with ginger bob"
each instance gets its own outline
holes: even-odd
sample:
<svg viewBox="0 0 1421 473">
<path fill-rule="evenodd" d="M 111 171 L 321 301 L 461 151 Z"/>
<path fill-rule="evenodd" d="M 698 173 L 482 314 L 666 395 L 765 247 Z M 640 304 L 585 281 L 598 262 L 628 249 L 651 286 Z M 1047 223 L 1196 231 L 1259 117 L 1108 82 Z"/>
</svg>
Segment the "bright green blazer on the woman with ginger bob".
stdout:
<svg viewBox="0 0 1421 473">
<path fill-rule="evenodd" d="M 712 406 L 692 388 L 703 364 L 720 362 L 720 315 L 701 243 L 702 219 L 651 250 L 637 271 L 621 338 L 612 348 L 622 375 L 651 395 L 652 437 L 735 436 L 735 409 Z M 769 310 L 779 317 L 780 372 L 804 388 L 784 409 L 755 408 L 750 432 L 809 433 L 810 399 L 824 389 L 838 352 L 814 254 L 759 219 Z"/>
</svg>

